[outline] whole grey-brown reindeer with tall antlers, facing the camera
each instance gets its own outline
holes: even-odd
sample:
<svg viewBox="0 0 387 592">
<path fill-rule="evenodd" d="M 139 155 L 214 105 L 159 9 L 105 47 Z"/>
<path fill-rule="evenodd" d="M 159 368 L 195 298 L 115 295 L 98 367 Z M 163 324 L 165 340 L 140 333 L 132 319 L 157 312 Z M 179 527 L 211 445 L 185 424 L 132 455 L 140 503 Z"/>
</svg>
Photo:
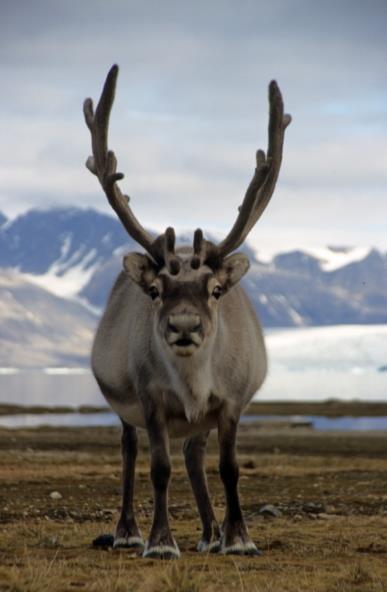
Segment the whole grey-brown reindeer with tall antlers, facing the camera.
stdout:
<svg viewBox="0 0 387 592">
<path fill-rule="evenodd" d="M 169 439 L 183 437 L 184 457 L 198 506 L 201 552 L 257 555 L 239 503 L 235 442 L 240 415 L 262 385 L 267 359 L 262 330 L 239 280 L 249 268 L 234 253 L 266 208 L 278 178 L 285 128 L 280 90 L 269 86 L 267 155 L 256 153 L 256 169 L 229 234 L 219 244 L 197 229 L 193 246 L 175 249 L 167 228 L 153 238 L 129 207 L 117 182 L 117 160 L 108 150 L 108 124 L 118 66 L 108 73 L 98 106 L 84 103 L 92 153 L 87 168 L 98 177 L 113 210 L 129 235 L 145 250 L 123 258 L 92 350 L 92 369 L 101 392 L 121 419 L 122 511 L 115 547 L 143 551 L 143 557 L 176 558 L 179 548 L 168 520 L 171 475 Z M 144 545 L 133 508 L 137 428 L 150 445 L 154 517 Z M 204 469 L 210 430 L 218 429 L 219 472 L 226 512 L 219 527 Z"/>
</svg>

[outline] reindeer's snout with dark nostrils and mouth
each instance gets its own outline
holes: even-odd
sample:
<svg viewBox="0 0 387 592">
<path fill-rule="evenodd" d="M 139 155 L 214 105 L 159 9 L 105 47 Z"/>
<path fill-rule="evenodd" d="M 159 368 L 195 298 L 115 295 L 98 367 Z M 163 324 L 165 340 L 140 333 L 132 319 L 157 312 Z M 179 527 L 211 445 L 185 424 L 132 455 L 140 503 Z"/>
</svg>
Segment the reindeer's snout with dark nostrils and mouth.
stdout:
<svg viewBox="0 0 387 592">
<path fill-rule="evenodd" d="M 169 315 L 166 341 L 178 355 L 191 355 L 202 342 L 200 316 L 188 312 Z"/>
</svg>

